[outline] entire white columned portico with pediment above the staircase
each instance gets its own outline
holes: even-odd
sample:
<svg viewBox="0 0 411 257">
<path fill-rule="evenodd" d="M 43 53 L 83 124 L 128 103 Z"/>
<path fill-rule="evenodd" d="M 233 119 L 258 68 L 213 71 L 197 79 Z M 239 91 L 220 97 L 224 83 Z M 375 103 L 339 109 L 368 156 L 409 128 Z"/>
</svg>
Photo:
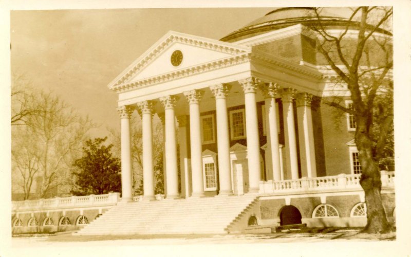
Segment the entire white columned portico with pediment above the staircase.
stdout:
<svg viewBox="0 0 411 257">
<path fill-rule="evenodd" d="M 233 194 L 236 181 L 230 147 L 236 143 L 247 149 L 243 168 L 249 185 L 245 193 L 258 193 L 261 180 L 298 179 L 299 173 L 315 176 L 310 100 L 319 90 L 320 79 L 315 69 L 254 52 L 251 47 L 170 31 L 109 85 L 118 93 L 121 110 L 123 199 L 127 201 L 130 197 L 125 196 L 131 195 L 131 166 L 127 163 L 133 109 L 141 114 L 143 126 L 144 198 L 154 198 L 151 126 L 155 113 L 164 113 L 165 198 L 201 197 L 209 188 L 219 195 Z M 278 115 L 278 104 L 283 115 Z M 281 117 L 284 127 L 279 129 Z M 286 161 L 279 152 L 281 129 Z M 297 133 L 300 157 L 304 156 L 300 160 Z M 268 154 L 260 149 L 262 138 Z M 216 154 L 215 163 L 203 163 L 204 150 Z"/>
</svg>

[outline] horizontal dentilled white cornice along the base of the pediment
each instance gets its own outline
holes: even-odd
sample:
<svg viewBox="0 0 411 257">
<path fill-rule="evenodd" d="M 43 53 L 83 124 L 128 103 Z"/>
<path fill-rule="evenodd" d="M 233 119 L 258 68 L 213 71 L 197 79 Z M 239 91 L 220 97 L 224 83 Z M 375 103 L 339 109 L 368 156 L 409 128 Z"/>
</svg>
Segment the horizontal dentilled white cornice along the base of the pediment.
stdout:
<svg viewBox="0 0 411 257">
<path fill-rule="evenodd" d="M 247 63 L 251 61 L 251 53 L 240 53 L 236 56 L 227 57 L 224 59 L 219 59 L 213 62 L 200 64 L 197 66 L 191 66 L 182 70 L 176 70 L 159 76 L 154 76 L 146 78 L 144 80 L 139 80 L 132 83 L 123 83 L 113 86 L 111 89 L 116 91 L 116 93 L 124 93 L 126 91 L 144 88 L 147 86 L 152 86 L 164 82 L 174 81 L 186 77 L 190 77 L 197 74 L 202 74 L 204 72 L 209 72 L 212 70 L 222 69 L 242 63 Z"/>
</svg>

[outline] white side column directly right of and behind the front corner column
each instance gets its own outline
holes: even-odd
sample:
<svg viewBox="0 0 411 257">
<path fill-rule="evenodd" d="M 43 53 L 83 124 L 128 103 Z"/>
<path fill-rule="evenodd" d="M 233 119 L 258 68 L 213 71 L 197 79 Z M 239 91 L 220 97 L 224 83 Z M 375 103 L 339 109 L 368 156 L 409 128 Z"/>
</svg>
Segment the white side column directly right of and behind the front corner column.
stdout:
<svg viewBox="0 0 411 257">
<path fill-rule="evenodd" d="M 275 104 L 275 95 L 278 90 L 276 84 L 267 83 L 261 86 L 264 92 L 266 113 L 268 113 L 268 127 L 267 127 L 267 144 L 270 153 L 270 159 L 266 160 L 272 162 L 272 172 L 270 177 L 275 181 L 281 180 L 281 163 L 279 156 L 278 130 L 277 130 L 277 107 Z"/>
</svg>

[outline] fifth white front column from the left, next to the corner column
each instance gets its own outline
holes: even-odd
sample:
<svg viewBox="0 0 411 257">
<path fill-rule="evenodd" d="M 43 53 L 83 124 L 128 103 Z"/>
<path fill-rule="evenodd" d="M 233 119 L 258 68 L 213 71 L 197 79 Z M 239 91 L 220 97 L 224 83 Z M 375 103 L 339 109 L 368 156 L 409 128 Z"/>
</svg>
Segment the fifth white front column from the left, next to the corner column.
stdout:
<svg viewBox="0 0 411 257">
<path fill-rule="evenodd" d="M 215 96 L 217 113 L 217 152 L 218 152 L 218 175 L 219 195 L 233 194 L 231 188 L 231 166 L 230 166 L 230 140 L 228 133 L 228 116 L 226 97 L 231 86 L 218 84 L 210 89 Z"/>
</svg>

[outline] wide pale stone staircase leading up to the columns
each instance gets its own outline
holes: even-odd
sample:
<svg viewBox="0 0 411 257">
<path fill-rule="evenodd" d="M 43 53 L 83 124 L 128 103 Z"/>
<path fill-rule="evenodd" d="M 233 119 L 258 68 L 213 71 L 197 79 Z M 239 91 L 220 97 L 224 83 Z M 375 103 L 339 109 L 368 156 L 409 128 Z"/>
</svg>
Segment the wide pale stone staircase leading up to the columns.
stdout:
<svg viewBox="0 0 411 257">
<path fill-rule="evenodd" d="M 256 201 L 256 195 L 241 195 L 119 204 L 76 234 L 229 233 Z"/>
</svg>

